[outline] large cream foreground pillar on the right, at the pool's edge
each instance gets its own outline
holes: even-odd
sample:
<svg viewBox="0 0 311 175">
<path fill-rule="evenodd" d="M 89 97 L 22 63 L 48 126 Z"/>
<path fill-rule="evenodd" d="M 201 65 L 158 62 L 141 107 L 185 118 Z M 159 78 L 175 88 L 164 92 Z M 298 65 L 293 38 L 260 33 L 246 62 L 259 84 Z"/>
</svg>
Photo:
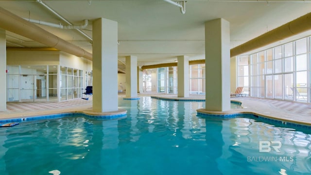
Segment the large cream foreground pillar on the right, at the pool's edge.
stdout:
<svg viewBox="0 0 311 175">
<path fill-rule="evenodd" d="M 230 109 L 230 27 L 225 19 L 205 23 L 206 109 Z"/>
</svg>

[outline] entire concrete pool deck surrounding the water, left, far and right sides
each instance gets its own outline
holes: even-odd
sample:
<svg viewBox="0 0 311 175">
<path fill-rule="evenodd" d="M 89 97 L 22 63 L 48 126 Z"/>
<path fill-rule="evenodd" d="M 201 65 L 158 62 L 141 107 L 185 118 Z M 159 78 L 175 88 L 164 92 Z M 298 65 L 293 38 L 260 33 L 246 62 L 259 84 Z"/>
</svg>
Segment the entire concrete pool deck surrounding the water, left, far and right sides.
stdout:
<svg viewBox="0 0 311 175">
<path fill-rule="evenodd" d="M 141 93 L 138 97 L 152 96 L 167 100 L 204 100 L 205 95 L 190 95 L 187 98 L 179 98 L 177 95 Z M 125 97 L 119 94 L 119 97 Z M 200 113 L 207 114 L 235 114 L 250 113 L 275 120 L 292 122 L 311 126 L 311 104 L 301 102 L 290 102 L 270 99 L 259 99 L 252 97 L 234 97 L 231 101 L 241 102 L 242 108 L 234 108 L 228 111 L 208 111 L 198 109 Z M 63 113 L 85 113 L 88 115 L 114 115 L 126 113 L 126 110 L 119 109 L 109 113 L 92 111 L 92 98 L 89 100 L 75 99 L 64 102 L 25 102 L 7 103 L 7 110 L 0 112 L 0 120 L 27 118 Z"/>
</svg>

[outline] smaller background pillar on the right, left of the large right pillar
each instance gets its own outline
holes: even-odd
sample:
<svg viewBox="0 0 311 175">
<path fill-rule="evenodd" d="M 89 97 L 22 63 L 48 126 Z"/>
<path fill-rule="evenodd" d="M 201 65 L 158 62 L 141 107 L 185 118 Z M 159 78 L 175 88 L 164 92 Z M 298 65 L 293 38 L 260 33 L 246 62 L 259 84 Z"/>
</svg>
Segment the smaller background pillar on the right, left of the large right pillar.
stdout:
<svg viewBox="0 0 311 175">
<path fill-rule="evenodd" d="M 189 97 L 189 58 L 177 56 L 177 88 L 178 97 Z"/>
</svg>

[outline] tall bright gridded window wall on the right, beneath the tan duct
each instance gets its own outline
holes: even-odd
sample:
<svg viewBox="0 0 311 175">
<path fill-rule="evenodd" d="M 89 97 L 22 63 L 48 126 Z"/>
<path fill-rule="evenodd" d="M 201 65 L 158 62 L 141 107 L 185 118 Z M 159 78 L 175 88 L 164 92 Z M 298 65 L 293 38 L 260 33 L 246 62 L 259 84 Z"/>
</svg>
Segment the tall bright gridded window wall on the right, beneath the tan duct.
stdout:
<svg viewBox="0 0 311 175">
<path fill-rule="evenodd" d="M 310 103 L 310 64 L 310 37 L 251 54 L 250 96 Z"/>
</svg>

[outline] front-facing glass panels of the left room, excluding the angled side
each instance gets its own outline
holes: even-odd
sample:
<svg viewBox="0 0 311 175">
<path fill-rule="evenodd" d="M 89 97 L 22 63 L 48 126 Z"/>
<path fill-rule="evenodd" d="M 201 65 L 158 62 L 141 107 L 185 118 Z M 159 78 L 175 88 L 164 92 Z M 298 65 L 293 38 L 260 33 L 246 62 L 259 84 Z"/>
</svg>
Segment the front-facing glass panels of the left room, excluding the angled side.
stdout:
<svg viewBox="0 0 311 175">
<path fill-rule="evenodd" d="M 57 66 L 8 66 L 7 101 L 57 101 Z"/>
</svg>

